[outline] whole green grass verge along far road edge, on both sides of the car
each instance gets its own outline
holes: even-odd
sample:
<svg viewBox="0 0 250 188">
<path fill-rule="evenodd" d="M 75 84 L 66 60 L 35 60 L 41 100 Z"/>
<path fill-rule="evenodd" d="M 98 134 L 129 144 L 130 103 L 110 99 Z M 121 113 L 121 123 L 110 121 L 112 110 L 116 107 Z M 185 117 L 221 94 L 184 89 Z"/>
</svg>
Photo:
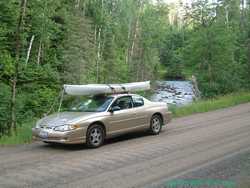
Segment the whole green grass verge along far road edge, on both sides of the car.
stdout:
<svg viewBox="0 0 250 188">
<path fill-rule="evenodd" d="M 241 103 L 250 102 L 250 92 L 239 92 L 230 95 L 216 97 L 214 99 L 200 100 L 184 107 L 170 107 L 174 117 L 186 116 L 194 113 L 208 112 L 220 108 L 226 108 Z M 24 144 L 32 141 L 31 128 L 35 121 L 23 123 L 18 127 L 17 134 L 3 136 L 0 138 L 0 145 Z"/>
</svg>

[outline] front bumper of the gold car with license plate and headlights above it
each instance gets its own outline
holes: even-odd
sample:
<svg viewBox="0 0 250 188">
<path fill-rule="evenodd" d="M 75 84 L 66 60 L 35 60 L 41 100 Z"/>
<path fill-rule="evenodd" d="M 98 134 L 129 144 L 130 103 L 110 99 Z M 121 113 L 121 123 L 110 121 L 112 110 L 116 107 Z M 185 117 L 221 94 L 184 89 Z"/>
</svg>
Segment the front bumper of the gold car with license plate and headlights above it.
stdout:
<svg viewBox="0 0 250 188">
<path fill-rule="evenodd" d="M 46 133 L 46 136 L 41 136 L 41 132 Z M 32 135 L 34 140 L 50 143 L 80 144 L 86 142 L 85 127 L 65 132 L 54 131 L 52 129 L 33 128 Z"/>
</svg>

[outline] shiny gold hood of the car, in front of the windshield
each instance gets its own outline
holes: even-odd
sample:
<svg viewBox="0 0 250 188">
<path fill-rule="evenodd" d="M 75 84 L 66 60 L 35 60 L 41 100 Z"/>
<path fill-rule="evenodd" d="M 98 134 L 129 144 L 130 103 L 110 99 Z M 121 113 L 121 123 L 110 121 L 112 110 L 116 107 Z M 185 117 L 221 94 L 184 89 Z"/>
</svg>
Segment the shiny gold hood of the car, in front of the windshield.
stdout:
<svg viewBox="0 0 250 188">
<path fill-rule="evenodd" d="M 99 115 L 99 112 L 61 112 L 42 118 L 38 124 L 55 127 L 65 124 L 75 124 Z"/>
</svg>

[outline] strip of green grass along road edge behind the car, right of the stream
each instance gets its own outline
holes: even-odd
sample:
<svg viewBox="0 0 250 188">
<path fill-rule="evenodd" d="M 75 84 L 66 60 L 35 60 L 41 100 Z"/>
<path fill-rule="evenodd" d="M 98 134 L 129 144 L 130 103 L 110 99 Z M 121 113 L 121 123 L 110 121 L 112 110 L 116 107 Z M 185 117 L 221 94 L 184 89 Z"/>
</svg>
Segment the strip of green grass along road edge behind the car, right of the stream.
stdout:
<svg viewBox="0 0 250 188">
<path fill-rule="evenodd" d="M 226 108 L 246 102 L 250 102 L 250 92 L 237 92 L 213 99 L 200 100 L 183 107 L 171 106 L 170 110 L 174 117 L 181 117 Z"/>
</svg>

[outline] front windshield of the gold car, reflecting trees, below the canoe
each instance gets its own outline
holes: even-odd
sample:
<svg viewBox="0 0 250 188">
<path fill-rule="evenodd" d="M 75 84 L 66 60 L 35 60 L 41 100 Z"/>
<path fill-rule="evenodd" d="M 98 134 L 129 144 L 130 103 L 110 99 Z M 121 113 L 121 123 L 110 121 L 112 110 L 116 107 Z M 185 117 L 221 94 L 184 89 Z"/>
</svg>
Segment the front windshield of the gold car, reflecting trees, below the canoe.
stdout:
<svg viewBox="0 0 250 188">
<path fill-rule="evenodd" d="M 81 99 L 75 105 L 69 108 L 71 112 L 104 112 L 113 97 L 110 96 L 94 96 L 86 99 Z"/>
</svg>

